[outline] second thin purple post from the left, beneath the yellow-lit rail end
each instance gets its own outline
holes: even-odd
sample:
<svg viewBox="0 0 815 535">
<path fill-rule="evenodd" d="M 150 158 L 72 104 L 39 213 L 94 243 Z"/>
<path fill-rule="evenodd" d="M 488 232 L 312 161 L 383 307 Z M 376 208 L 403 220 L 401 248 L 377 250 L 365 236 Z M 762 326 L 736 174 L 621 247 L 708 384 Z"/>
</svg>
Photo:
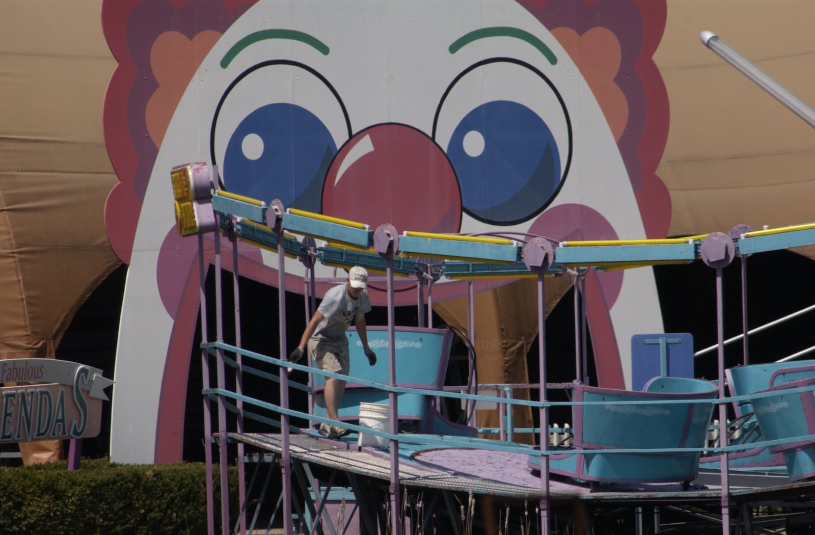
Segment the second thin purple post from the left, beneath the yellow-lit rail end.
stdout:
<svg viewBox="0 0 815 535">
<path fill-rule="evenodd" d="M 223 342 L 223 308 L 221 288 L 221 229 L 216 228 L 215 237 L 215 341 Z M 223 349 L 218 347 L 218 389 L 226 384 L 223 364 Z M 218 395 L 218 453 L 221 464 L 221 533 L 229 535 L 229 459 L 227 458 L 227 405 L 222 395 Z"/>
</svg>

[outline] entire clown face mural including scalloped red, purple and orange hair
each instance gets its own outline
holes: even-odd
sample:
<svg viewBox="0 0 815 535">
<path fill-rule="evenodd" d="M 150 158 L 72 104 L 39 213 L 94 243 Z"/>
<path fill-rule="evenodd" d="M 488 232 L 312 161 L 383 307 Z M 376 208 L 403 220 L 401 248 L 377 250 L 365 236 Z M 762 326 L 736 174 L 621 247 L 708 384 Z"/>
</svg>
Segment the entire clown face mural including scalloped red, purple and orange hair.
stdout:
<svg viewBox="0 0 815 535">
<path fill-rule="evenodd" d="M 667 102 L 659 80 L 641 77 L 663 11 L 583 0 L 104 2 L 120 62 L 104 126 L 121 179 L 105 217 L 130 265 L 112 459 L 180 458 L 200 281 L 197 241 L 174 228 L 172 166 L 208 161 L 231 192 L 399 232 L 664 237 L 670 205 L 653 170 Z M 238 253 L 242 275 L 276 281 L 275 254 Z M 302 265 L 286 269 L 287 290 L 302 291 Z M 588 289 L 593 341 L 610 347 L 598 369 L 622 387 L 631 335 L 662 330 L 653 276 L 595 275 Z M 443 282 L 434 298 L 464 291 Z"/>
</svg>

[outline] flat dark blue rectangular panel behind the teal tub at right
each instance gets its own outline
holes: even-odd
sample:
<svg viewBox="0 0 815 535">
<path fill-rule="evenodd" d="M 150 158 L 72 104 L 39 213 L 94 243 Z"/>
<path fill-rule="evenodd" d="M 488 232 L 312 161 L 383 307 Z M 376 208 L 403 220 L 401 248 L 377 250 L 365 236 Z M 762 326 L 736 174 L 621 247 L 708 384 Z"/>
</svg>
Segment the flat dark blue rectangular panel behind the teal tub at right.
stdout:
<svg viewBox="0 0 815 535">
<path fill-rule="evenodd" d="M 690 333 L 634 334 L 631 337 L 631 389 L 640 391 L 650 378 L 661 375 L 665 338 L 667 375 L 694 377 L 694 336 Z"/>
</svg>

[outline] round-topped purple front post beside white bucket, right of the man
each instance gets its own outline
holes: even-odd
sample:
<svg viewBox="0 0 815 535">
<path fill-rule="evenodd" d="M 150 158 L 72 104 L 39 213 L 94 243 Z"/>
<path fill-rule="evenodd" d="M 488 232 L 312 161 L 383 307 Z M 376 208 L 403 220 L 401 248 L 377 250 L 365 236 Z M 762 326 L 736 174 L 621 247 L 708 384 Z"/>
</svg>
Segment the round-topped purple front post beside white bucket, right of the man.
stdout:
<svg viewBox="0 0 815 535">
<path fill-rule="evenodd" d="M 399 250 L 399 234 L 393 225 L 383 224 L 373 234 L 373 246 L 387 261 L 388 278 L 388 365 L 390 386 L 396 386 L 396 331 L 394 327 L 394 254 Z M 399 407 L 396 392 L 388 392 L 389 432 L 399 433 Z M 390 533 L 402 533 L 402 501 L 399 498 L 399 440 L 390 440 Z"/>
</svg>

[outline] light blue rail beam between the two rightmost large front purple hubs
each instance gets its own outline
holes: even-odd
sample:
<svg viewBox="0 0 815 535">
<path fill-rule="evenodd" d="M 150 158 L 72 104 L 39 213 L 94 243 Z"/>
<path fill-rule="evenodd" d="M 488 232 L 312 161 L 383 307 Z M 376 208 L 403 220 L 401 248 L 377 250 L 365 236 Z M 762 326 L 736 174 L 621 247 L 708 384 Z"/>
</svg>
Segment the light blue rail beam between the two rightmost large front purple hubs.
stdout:
<svg viewBox="0 0 815 535">
<path fill-rule="evenodd" d="M 659 262 L 661 260 L 695 260 L 696 245 L 597 245 L 557 247 L 555 262 L 579 266 L 598 266 L 611 262 Z"/>
</svg>

